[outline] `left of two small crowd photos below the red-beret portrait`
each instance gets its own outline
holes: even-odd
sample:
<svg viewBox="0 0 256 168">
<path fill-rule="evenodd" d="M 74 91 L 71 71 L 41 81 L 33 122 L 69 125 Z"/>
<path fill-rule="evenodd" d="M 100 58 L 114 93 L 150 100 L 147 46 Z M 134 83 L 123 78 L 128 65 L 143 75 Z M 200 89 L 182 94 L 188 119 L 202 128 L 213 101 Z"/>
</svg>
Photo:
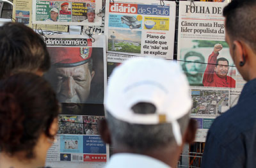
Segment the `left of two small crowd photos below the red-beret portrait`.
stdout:
<svg viewBox="0 0 256 168">
<path fill-rule="evenodd" d="M 58 134 L 83 134 L 81 116 L 60 116 Z"/>
</svg>

